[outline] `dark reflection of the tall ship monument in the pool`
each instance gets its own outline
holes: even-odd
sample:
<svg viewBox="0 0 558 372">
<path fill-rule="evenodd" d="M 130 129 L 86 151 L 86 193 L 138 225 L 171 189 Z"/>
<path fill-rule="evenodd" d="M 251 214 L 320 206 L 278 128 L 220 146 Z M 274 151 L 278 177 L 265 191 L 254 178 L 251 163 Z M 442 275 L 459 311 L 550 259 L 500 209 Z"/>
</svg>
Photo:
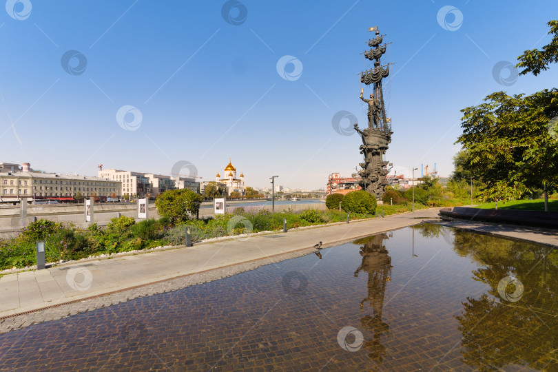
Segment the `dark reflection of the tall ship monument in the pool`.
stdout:
<svg viewBox="0 0 558 372">
<path fill-rule="evenodd" d="M 391 282 L 391 257 L 384 240 L 389 239 L 387 234 L 377 234 L 370 238 L 356 240 L 360 247 L 362 263 L 355 271 L 358 277 L 360 271 L 368 273 L 368 297 L 360 302 L 360 310 L 364 311 L 364 302 L 369 302 L 372 314 L 364 316 L 360 320 L 362 327 L 365 327 L 374 336 L 371 340 L 364 342 L 364 347 L 369 350 L 369 358 L 382 362 L 386 353 L 386 348 L 381 344 L 381 336 L 389 332 L 389 325 L 382 320 L 382 309 L 384 307 L 384 294 L 386 293 L 386 282 Z"/>
</svg>

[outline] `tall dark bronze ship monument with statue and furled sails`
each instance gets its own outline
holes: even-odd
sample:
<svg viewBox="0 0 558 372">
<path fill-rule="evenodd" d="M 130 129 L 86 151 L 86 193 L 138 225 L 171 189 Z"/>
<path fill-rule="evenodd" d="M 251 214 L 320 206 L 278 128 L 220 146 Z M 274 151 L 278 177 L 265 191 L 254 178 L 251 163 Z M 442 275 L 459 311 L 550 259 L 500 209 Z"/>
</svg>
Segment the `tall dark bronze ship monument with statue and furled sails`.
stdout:
<svg viewBox="0 0 558 372">
<path fill-rule="evenodd" d="M 363 190 L 369 192 L 380 200 L 384 194 L 384 187 L 388 185 L 386 175 L 388 174 L 388 161 L 384 161 L 384 155 L 391 143 L 391 118 L 386 117 L 384 105 L 384 92 L 382 91 L 382 79 L 389 76 L 389 63 L 382 66 L 380 56 L 386 52 L 386 44 L 381 45 L 384 35 L 380 35 L 378 26 L 369 28 L 375 31 L 376 37 L 368 41 L 371 50 L 364 52 L 366 59 L 374 61 L 374 67 L 360 73 L 360 82 L 366 85 L 373 84 L 373 93 L 370 99 L 364 99 L 364 89 L 360 91 L 360 99 L 368 105 L 368 127 L 360 130 L 355 124 L 355 131 L 362 137 L 360 153 L 364 154 L 364 163 L 360 163 L 362 169 L 359 184 Z"/>
</svg>

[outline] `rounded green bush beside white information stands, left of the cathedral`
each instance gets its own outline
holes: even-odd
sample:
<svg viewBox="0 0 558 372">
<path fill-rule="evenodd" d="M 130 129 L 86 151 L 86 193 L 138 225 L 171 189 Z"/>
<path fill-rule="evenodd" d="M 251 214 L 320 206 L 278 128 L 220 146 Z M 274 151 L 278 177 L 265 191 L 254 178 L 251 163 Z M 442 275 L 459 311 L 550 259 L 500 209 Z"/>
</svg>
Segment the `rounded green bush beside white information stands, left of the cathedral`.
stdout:
<svg viewBox="0 0 558 372">
<path fill-rule="evenodd" d="M 200 210 L 201 196 L 188 189 L 174 189 L 163 192 L 155 200 L 160 216 L 168 217 L 172 222 L 187 220 L 196 216 Z"/>
</svg>

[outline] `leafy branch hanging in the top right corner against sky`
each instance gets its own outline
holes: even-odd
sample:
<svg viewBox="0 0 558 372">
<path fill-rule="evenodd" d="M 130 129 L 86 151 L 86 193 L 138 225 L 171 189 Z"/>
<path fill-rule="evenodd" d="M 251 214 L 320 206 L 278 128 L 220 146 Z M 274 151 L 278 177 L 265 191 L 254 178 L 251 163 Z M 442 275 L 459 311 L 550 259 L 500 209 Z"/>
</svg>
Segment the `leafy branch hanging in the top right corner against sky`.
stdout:
<svg viewBox="0 0 558 372">
<path fill-rule="evenodd" d="M 558 62 L 558 21 L 549 21 L 548 25 L 550 26 L 548 34 L 554 34 L 552 41 L 541 50 L 526 50 L 524 54 L 517 57 L 519 63 L 515 67 L 524 68 L 519 72 L 520 75 L 532 73 L 537 76 L 541 71 L 546 70 L 550 63 Z"/>
</svg>

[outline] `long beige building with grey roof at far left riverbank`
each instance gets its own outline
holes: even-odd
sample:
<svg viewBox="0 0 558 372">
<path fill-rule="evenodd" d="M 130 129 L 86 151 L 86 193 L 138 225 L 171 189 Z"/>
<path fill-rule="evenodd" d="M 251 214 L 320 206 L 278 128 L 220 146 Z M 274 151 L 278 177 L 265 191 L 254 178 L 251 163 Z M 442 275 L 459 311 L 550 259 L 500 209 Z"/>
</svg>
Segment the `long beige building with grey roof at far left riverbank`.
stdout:
<svg viewBox="0 0 558 372">
<path fill-rule="evenodd" d="M 107 200 L 112 194 L 121 195 L 121 183 L 100 177 L 30 170 L 0 173 L 0 203 L 17 202 L 19 198 L 70 201 L 78 192 L 84 198 L 94 193 L 100 200 Z"/>
</svg>

